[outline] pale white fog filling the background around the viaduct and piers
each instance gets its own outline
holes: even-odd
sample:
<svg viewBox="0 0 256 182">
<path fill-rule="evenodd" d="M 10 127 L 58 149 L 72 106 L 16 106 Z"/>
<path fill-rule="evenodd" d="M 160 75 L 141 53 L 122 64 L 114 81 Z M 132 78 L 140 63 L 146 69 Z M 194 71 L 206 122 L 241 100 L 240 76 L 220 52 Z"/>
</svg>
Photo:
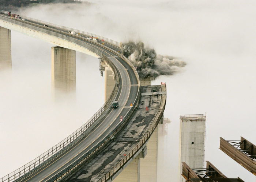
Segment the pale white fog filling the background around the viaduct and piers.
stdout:
<svg viewBox="0 0 256 182">
<path fill-rule="evenodd" d="M 179 115 L 207 112 L 205 160 L 227 177 L 254 182 L 255 175 L 218 148 L 219 137 L 242 136 L 256 144 L 255 7 L 253 0 L 97 0 L 39 5 L 19 13 L 117 41 L 141 40 L 157 54 L 187 62 L 184 72 L 161 76 L 153 83 L 166 82 L 165 117 L 172 121 L 164 147 L 163 179 L 178 180 Z M 14 31 L 11 38 L 12 73 L 0 73 L 0 177 L 82 126 L 104 100 L 98 60 L 77 53 L 76 104 L 68 104 L 73 102 L 68 96 L 53 104 L 52 45 Z"/>
</svg>

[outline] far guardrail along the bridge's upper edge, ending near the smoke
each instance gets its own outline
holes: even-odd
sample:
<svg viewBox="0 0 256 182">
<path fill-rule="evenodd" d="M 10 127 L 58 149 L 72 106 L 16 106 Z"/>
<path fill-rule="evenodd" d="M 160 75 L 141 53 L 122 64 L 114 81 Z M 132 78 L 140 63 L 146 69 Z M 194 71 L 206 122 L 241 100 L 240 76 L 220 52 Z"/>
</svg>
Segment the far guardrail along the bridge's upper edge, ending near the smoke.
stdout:
<svg viewBox="0 0 256 182">
<path fill-rule="evenodd" d="M 84 35 L 89 36 L 89 37 L 91 37 L 91 36 L 97 37 L 98 39 L 104 40 L 104 42 L 113 44 L 114 46 L 117 46 L 117 47 L 119 47 L 119 44 L 120 44 L 118 41 L 115 41 L 115 40 L 112 40 L 112 39 L 109 39 L 107 37 L 103 37 L 101 35 L 97 35 L 97 34 L 94 34 L 94 33 L 85 32 L 85 31 L 78 30 L 78 29 L 75 29 L 75 28 L 65 27 L 65 26 L 62 26 L 62 25 L 50 23 L 50 22 L 47 22 L 47 21 L 38 20 L 38 19 L 31 18 L 31 17 L 28 17 L 28 16 L 20 16 L 20 17 L 22 17 L 24 19 L 27 19 L 27 20 L 35 21 L 35 22 L 38 22 L 38 23 L 41 23 L 41 24 L 46 24 L 46 25 L 51 25 L 53 27 L 59 27 L 59 28 L 62 28 L 62 29 L 66 29 L 67 31 L 74 31 L 76 33 L 83 33 Z"/>
</svg>

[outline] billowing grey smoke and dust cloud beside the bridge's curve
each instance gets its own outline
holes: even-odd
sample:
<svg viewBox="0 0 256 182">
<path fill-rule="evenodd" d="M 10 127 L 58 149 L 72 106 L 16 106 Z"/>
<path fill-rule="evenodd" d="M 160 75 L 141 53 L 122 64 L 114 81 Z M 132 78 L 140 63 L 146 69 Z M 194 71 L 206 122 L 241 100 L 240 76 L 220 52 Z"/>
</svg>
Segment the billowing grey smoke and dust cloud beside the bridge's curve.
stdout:
<svg viewBox="0 0 256 182">
<path fill-rule="evenodd" d="M 182 71 L 186 63 L 172 56 L 157 55 L 154 49 L 144 48 L 144 43 L 134 42 L 121 43 L 122 53 L 135 67 L 140 78 L 160 75 L 174 75 Z"/>
</svg>

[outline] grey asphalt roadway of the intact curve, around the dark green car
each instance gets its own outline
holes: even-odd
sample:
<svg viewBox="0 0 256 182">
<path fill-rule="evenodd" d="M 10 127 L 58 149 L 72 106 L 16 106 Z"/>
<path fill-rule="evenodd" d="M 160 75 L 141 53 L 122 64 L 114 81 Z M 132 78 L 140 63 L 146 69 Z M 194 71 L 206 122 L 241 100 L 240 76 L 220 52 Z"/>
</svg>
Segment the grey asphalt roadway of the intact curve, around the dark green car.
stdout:
<svg viewBox="0 0 256 182">
<path fill-rule="evenodd" d="M 80 37 L 78 37 L 79 39 Z M 83 40 L 80 38 L 80 40 Z M 91 45 L 95 46 L 95 43 L 88 40 L 83 40 Z M 99 48 L 104 51 L 103 53 L 109 57 L 116 56 L 113 52 L 107 49 Z M 90 150 L 95 144 L 101 141 L 108 133 L 120 122 L 120 116 L 124 116 L 130 109 L 130 104 L 134 102 L 135 96 L 138 92 L 138 80 L 133 73 L 132 68 L 121 58 L 109 58 L 120 71 L 122 87 L 121 94 L 118 98 L 119 107 L 112 109 L 105 120 L 97 126 L 83 141 L 80 141 L 79 145 L 76 145 L 62 157 L 57 158 L 44 168 L 36 171 L 33 175 L 24 181 L 46 181 L 54 174 L 58 173 L 66 166 L 74 162 L 88 150 Z M 130 86 L 132 85 L 132 86 Z"/>
</svg>

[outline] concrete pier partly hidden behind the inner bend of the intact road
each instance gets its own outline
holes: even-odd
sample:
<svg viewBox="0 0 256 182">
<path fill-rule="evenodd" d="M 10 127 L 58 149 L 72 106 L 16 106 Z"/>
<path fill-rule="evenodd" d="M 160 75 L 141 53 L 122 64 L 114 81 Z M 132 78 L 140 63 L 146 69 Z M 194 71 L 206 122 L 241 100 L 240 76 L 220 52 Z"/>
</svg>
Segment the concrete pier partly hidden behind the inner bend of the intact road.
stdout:
<svg viewBox="0 0 256 182">
<path fill-rule="evenodd" d="M 114 72 L 111 68 L 105 67 L 105 102 L 108 100 L 116 84 Z"/>
</svg>

